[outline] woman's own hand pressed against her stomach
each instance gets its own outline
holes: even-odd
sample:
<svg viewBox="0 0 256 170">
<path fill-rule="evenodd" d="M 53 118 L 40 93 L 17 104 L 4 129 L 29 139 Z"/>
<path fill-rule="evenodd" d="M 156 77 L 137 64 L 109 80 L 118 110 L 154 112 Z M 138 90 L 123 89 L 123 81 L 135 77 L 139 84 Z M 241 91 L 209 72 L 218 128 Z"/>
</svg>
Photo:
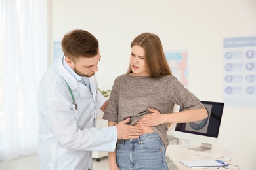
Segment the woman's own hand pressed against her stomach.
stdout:
<svg viewBox="0 0 256 170">
<path fill-rule="evenodd" d="M 158 126 L 160 124 L 164 123 L 163 120 L 163 114 L 161 114 L 156 109 L 150 109 L 148 110 L 152 113 L 147 114 L 146 116 L 143 116 L 137 123 L 137 126 Z"/>
</svg>

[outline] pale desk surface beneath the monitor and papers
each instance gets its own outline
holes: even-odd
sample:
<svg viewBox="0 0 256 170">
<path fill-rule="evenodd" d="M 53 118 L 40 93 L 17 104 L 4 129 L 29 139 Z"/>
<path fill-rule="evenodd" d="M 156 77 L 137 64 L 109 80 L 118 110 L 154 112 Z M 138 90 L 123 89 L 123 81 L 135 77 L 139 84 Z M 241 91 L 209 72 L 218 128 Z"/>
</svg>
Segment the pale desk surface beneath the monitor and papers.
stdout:
<svg viewBox="0 0 256 170">
<path fill-rule="evenodd" d="M 249 170 L 249 169 L 254 169 L 252 163 L 248 163 L 244 160 L 244 158 L 239 158 L 236 156 L 234 153 L 230 152 L 229 150 L 226 150 L 225 148 L 221 146 L 214 145 L 211 150 L 207 150 L 205 152 L 211 152 L 213 154 L 222 154 L 226 157 L 232 158 L 232 160 L 226 162 L 226 163 L 232 163 L 234 165 L 239 165 L 241 166 L 240 170 Z M 167 159 L 171 160 L 179 169 L 201 169 L 202 168 L 190 168 L 187 167 L 186 165 L 182 164 L 179 160 L 213 160 L 213 158 L 208 158 L 205 156 L 198 156 L 195 154 L 191 154 L 190 150 L 188 150 L 188 147 L 184 147 L 181 145 L 171 145 L 167 147 L 166 150 L 166 156 Z M 219 158 L 218 160 L 222 160 L 222 158 Z M 208 169 L 217 169 L 217 167 L 210 167 Z M 220 168 L 219 170 L 224 170 L 223 168 Z"/>
</svg>

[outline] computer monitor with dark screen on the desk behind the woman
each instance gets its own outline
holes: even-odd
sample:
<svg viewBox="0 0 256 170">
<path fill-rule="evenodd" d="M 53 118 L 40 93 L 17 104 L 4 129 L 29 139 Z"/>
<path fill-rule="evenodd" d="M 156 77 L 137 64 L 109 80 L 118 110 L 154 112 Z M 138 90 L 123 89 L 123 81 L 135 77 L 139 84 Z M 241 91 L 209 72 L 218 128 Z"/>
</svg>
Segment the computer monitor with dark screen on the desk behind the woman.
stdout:
<svg viewBox="0 0 256 170">
<path fill-rule="evenodd" d="M 224 108 L 224 103 L 221 102 L 201 102 L 208 112 L 208 118 L 196 122 L 176 124 L 173 133 L 173 136 L 176 138 L 200 142 L 200 147 L 190 148 L 196 151 L 209 150 L 212 144 L 217 144 Z"/>
</svg>

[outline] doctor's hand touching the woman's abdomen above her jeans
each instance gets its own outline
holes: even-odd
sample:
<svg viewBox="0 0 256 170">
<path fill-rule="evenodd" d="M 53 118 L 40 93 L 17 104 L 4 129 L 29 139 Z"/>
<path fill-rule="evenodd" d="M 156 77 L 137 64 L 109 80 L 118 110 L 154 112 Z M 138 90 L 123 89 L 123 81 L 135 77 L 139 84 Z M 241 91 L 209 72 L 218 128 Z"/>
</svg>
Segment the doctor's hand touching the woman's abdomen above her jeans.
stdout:
<svg viewBox="0 0 256 170">
<path fill-rule="evenodd" d="M 137 139 L 139 135 L 143 135 L 144 130 L 139 126 L 127 125 L 130 118 L 127 118 L 116 124 L 118 139 Z"/>
</svg>

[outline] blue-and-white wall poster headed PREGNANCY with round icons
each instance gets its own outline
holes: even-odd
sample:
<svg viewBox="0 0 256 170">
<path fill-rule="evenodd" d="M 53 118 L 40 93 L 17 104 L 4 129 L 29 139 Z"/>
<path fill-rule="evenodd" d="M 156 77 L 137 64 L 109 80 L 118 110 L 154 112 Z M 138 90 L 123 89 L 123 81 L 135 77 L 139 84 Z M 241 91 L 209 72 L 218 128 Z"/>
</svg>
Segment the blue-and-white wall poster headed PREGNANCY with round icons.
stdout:
<svg viewBox="0 0 256 170">
<path fill-rule="evenodd" d="M 256 107 L 256 36 L 223 41 L 223 101 Z"/>
</svg>

